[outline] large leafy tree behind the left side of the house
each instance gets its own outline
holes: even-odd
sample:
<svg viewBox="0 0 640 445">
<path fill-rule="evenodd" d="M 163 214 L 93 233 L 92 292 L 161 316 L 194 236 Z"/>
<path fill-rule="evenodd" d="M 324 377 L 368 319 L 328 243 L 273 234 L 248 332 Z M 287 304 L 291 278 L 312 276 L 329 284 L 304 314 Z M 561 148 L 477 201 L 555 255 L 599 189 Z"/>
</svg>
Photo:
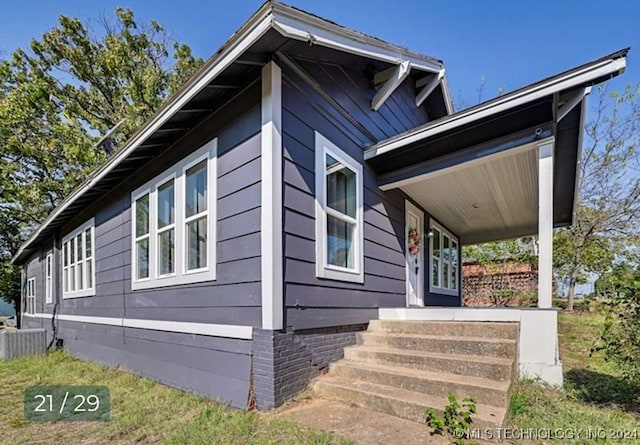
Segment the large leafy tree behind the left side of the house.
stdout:
<svg viewBox="0 0 640 445">
<path fill-rule="evenodd" d="M 114 135 L 123 143 L 201 64 L 160 24 L 122 8 L 85 23 L 61 16 L 0 61 L 0 295 L 19 304 L 9 259 L 105 161 L 93 149 L 100 135 L 123 121 Z"/>
</svg>

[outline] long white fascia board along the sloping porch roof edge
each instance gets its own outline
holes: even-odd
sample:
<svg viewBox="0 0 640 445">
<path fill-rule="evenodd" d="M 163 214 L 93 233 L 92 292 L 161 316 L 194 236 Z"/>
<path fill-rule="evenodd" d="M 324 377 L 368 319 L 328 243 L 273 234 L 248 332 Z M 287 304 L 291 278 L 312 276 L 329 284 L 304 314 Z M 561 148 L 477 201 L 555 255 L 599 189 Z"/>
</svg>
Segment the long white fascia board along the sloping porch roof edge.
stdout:
<svg viewBox="0 0 640 445">
<path fill-rule="evenodd" d="M 383 153 L 388 153 L 397 148 L 404 147 L 407 144 L 483 119 L 487 116 L 491 116 L 492 114 L 497 114 L 522 104 L 535 101 L 542 97 L 575 88 L 576 86 L 600 77 L 619 72 L 625 67 L 626 58 L 603 60 L 594 66 L 585 67 L 580 71 L 568 73 L 567 75 L 559 78 L 550 79 L 538 85 L 524 88 L 516 93 L 499 97 L 484 105 L 471 108 L 467 111 L 462 111 L 456 115 L 450 116 L 449 118 L 440 119 L 432 124 L 427 124 L 416 131 L 409 132 L 404 136 L 383 141 L 367 149 L 365 151 L 364 158 L 367 160 L 375 158 Z"/>
</svg>

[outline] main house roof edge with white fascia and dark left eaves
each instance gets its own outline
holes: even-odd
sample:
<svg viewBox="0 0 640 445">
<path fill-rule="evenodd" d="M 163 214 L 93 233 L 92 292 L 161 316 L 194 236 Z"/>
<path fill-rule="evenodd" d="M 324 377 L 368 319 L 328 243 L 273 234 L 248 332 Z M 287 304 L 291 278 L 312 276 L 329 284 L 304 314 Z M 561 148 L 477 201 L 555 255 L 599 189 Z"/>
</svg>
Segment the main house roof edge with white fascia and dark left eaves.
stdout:
<svg viewBox="0 0 640 445">
<path fill-rule="evenodd" d="M 135 172 L 141 162 L 158 155 L 189 130 L 188 124 L 204 113 L 215 112 L 210 104 L 227 103 L 237 92 L 234 85 L 217 84 L 220 78 L 244 79 L 255 75 L 268 62 L 263 54 L 277 49 L 285 40 L 308 42 L 344 53 L 383 62 L 408 63 L 417 71 L 443 75 L 442 61 L 410 51 L 378 38 L 340 26 L 300 9 L 267 1 L 242 27 L 103 165 L 93 171 L 67 196 L 18 249 L 13 263 L 19 263 L 78 211 Z M 445 108 L 453 112 L 446 78 L 441 83 Z M 202 104 L 209 104 L 202 107 Z M 185 117 L 186 116 L 186 117 Z M 186 128 L 185 128 L 186 127 Z"/>
</svg>

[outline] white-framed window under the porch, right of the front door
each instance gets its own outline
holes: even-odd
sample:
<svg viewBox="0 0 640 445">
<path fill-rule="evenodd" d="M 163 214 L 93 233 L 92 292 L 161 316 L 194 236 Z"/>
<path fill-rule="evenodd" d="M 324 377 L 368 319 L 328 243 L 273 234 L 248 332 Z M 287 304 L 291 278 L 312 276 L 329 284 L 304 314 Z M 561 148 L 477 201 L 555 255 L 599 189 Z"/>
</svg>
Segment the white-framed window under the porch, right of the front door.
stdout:
<svg viewBox="0 0 640 445">
<path fill-rule="evenodd" d="M 458 295 L 458 238 L 432 220 L 430 244 L 431 292 Z"/>
</svg>

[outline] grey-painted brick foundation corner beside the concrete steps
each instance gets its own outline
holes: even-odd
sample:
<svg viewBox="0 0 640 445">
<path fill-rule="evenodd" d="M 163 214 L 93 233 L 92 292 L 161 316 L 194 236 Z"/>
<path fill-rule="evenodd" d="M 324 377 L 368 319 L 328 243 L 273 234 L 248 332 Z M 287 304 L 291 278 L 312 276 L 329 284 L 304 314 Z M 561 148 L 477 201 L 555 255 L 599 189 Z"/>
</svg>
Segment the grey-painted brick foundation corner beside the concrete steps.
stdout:
<svg viewBox="0 0 640 445">
<path fill-rule="evenodd" d="M 253 387 L 256 406 L 270 409 L 300 393 L 312 378 L 343 357 L 366 324 L 294 331 L 255 329 Z"/>
</svg>

